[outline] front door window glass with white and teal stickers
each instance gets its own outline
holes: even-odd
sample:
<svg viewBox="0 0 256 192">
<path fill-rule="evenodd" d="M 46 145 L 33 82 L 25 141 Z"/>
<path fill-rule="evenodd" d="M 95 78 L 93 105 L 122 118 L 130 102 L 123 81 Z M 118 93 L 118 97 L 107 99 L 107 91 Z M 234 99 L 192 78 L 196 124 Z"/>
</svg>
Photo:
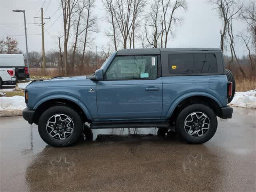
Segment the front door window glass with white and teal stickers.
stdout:
<svg viewBox="0 0 256 192">
<path fill-rule="evenodd" d="M 117 56 L 105 80 L 156 79 L 157 56 Z"/>
</svg>

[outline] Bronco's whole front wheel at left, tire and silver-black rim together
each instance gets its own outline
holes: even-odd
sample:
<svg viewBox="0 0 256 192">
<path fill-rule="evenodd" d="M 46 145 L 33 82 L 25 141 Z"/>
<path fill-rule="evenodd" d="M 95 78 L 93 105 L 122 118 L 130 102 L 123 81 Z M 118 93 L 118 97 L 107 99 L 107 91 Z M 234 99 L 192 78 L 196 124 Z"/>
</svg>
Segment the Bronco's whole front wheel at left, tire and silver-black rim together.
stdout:
<svg viewBox="0 0 256 192">
<path fill-rule="evenodd" d="M 80 116 L 72 108 L 54 106 L 40 117 L 38 132 L 50 146 L 65 147 L 76 142 L 82 134 L 83 126 Z"/>
</svg>

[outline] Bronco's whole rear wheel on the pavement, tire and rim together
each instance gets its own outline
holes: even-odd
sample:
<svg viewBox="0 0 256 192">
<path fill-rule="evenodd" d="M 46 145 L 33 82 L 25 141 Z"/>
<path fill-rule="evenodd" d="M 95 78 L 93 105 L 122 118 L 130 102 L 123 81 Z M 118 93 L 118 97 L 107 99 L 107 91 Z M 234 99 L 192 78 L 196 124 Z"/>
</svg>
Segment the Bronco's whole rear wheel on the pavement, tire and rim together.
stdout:
<svg viewBox="0 0 256 192">
<path fill-rule="evenodd" d="M 202 144 L 210 140 L 218 126 L 214 111 L 203 104 L 192 104 L 184 108 L 176 120 L 179 136 L 191 144 Z"/>
</svg>

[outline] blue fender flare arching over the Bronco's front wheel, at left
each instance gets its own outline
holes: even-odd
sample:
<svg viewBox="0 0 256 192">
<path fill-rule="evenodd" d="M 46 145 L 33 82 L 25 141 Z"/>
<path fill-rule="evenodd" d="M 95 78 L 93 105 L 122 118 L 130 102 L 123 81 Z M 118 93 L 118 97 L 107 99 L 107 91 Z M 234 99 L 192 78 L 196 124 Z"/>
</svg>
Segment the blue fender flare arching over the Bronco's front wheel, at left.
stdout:
<svg viewBox="0 0 256 192">
<path fill-rule="evenodd" d="M 86 115 L 86 117 L 89 120 L 92 120 L 92 115 L 90 114 L 90 111 L 88 110 L 88 108 L 77 98 L 72 97 L 72 96 L 67 96 L 67 95 L 62 95 L 62 94 L 57 94 L 57 95 L 52 95 L 52 96 L 47 96 L 45 98 L 42 98 L 41 100 L 39 100 L 39 102 L 36 103 L 36 105 L 34 106 L 33 109 L 38 108 L 38 106 L 40 106 L 40 104 L 48 101 L 48 100 L 52 100 L 52 99 L 66 99 L 69 100 L 71 102 L 74 102 L 75 104 L 77 104 L 78 106 L 80 106 L 80 108 L 84 111 L 84 114 Z"/>
</svg>

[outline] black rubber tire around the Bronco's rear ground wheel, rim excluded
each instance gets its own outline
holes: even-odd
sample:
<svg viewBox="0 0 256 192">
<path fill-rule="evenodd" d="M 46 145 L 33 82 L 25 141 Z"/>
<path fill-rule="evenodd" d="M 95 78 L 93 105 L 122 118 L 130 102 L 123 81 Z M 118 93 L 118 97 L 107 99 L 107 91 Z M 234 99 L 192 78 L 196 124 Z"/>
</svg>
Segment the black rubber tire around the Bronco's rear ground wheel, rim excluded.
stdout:
<svg viewBox="0 0 256 192">
<path fill-rule="evenodd" d="M 209 128 L 202 136 L 192 136 L 185 130 L 185 120 L 190 114 L 194 112 L 204 113 L 210 120 Z M 203 104 L 192 104 L 184 108 L 176 119 L 176 132 L 182 139 L 191 144 L 202 144 L 210 140 L 214 136 L 217 130 L 217 126 L 218 121 L 216 114 L 210 107 Z"/>
</svg>

